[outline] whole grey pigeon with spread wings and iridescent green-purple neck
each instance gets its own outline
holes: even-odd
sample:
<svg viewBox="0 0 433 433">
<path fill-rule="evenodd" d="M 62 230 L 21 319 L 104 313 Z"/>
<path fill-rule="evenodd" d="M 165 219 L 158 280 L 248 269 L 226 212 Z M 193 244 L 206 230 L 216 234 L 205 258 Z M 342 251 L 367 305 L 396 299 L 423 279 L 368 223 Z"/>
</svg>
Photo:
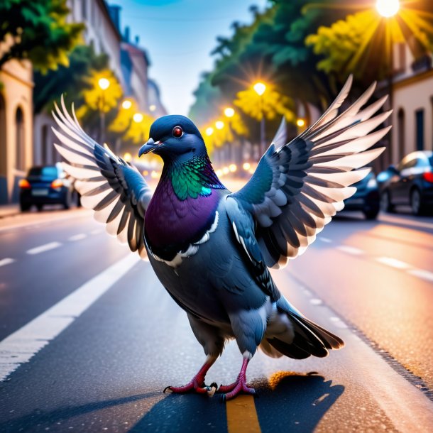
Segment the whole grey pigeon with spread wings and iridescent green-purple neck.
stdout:
<svg viewBox="0 0 433 433">
<path fill-rule="evenodd" d="M 283 268 L 305 251 L 356 192 L 368 163 L 384 148 L 391 111 L 379 112 L 386 96 L 366 106 L 373 83 L 341 110 L 349 77 L 329 109 L 290 143 L 280 127 L 256 171 L 241 190 L 230 192 L 212 168 L 197 126 L 168 115 L 150 127 L 138 156 L 159 155 L 163 171 L 152 193 L 140 172 L 83 131 L 74 106 L 61 99 L 53 111 L 55 148 L 76 180 L 84 207 L 106 231 L 150 261 L 160 283 L 185 310 L 206 355 L 189 383 L 172 393 L 196 392 L 223 400 L 255 394 L 246 369 L 257 349 L 270 357 L 322 358 L 344 341 L 307 319 L 278 290 L 270 268 Z M 379 114 L 377 114 L 379 112 Z M 206 385 L 209 368 L 226 341 L 242 355 L 231 385 Z"/>
</svg>

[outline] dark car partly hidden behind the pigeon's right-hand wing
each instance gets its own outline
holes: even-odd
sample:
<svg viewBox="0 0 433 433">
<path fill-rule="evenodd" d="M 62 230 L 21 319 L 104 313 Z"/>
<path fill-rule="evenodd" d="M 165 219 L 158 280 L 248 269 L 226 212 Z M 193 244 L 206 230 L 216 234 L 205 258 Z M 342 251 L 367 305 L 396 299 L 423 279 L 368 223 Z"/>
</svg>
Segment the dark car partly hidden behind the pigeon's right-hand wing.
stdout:
<svg viewBox="0 0 433 433">
<path fill-rule="evenodd" d="M 366 219 L 376 219 L 380 210 L 380 195 L 374 173 L 369 172 L 353 186 L 356 187 L 356 192 L 344 200 L 344 210 L 361 211 Z"/>
</svg>

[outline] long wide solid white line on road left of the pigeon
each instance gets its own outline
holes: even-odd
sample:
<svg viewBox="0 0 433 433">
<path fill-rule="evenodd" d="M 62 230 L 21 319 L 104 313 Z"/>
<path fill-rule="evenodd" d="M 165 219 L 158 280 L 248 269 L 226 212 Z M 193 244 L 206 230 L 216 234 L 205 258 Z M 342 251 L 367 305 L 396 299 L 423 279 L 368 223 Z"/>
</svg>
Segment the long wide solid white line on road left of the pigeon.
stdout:
<svg viewBox="0 0 433 433">
<path fill-rule="evenodd" d="M 30 361 L 35 353 L 55 339 L 139 261 L 137 254 L 128 254 L 0 341 L 0 382 L 22 363 Z"/>
</svg>

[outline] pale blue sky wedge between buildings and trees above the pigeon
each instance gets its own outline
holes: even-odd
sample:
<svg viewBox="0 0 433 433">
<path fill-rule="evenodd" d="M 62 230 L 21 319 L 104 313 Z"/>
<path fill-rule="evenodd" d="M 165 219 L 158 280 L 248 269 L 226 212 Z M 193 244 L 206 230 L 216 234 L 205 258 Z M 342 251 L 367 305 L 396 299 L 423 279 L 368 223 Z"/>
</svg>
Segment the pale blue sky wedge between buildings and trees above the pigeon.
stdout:
<svg viewBox="0 0 433 433">
<path fill-rule="evenodd" d="M 230 36 L 231 23 L 251 23 L 249 6 L 265 8 L 266 0 L 109 0 L 122 7 L 121 28 L 150 57 L 149 77 L 155 80 L 169 114 L 187 115 L 200 75 L 212 70 L 210 55 L 217 36 Z"/>
</svg>

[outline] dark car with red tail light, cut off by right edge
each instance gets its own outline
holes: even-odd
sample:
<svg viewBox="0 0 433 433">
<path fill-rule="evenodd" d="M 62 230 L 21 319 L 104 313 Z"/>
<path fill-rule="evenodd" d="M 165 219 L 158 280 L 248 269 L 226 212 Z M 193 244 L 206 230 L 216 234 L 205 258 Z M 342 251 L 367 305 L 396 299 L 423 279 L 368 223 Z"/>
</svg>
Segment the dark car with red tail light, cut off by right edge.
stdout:
<svg viewBox="0 0 433 433">
<path fill-rule="evenodd" d="M 380 207 L 394 212 L 395 206 L 409 204 L 412 213 L 423 214 L 433 209 L 433 152 L 409 153 L 395 167 L 378 174 Z"/>
</svg>

